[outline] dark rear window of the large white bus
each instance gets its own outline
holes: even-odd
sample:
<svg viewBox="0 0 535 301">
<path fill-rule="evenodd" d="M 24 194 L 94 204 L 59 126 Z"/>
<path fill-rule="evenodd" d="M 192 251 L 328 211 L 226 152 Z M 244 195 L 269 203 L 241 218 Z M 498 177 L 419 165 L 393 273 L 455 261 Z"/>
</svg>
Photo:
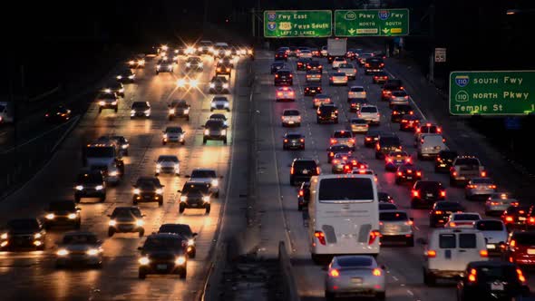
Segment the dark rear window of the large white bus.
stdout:
<svg viewBox="0 0 535 301">
<path fill-rule="evenodd" d="M 374 187 L 367 178 L 323 179 L 319 182 L 318 199 L 320 202 L 372 202 Z"/>
</svg>

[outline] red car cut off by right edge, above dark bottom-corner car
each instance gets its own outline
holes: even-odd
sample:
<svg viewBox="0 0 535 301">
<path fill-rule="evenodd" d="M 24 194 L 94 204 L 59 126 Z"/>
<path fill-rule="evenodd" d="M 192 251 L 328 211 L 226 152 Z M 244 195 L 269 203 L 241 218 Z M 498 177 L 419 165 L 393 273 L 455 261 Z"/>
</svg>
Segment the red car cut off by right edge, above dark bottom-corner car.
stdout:
<svg viewBox="0 0 535 301">
<path fill-rule="evenodd" d="M 535 231 L 514 231 L 504 247 L 503 258 L 520 266 L 535 265 Z"/>
</svg>

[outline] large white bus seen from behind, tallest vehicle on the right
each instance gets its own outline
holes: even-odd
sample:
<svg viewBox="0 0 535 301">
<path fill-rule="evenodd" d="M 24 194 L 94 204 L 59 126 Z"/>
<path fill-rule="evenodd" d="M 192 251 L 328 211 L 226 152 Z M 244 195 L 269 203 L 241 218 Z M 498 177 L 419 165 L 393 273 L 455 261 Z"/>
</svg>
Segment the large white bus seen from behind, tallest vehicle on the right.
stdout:
<svg viewBox="0 0 535 301">
<path fill-rule="evenodd" d="M 315 262 L 337 255 L 379 253 L 379 199 L 374 175 L 319 175 L 310 180 L 310 254 Z"/>
</svg>

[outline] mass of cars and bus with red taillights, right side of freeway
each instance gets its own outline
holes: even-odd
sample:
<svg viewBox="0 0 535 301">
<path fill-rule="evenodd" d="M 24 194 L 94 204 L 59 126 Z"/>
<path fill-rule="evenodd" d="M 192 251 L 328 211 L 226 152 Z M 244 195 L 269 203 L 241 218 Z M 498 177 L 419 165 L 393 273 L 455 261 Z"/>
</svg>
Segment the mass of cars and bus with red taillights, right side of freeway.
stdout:
<svg viewBox="0 0 535 301">
<path fill-rule="evenodd" d="M 395 184 L 410 188 L 407 196 L 412 209 L 430 210 L 429 225 L 436 229 L 424 239 L 425 285 L 434 286 L 440 278 L 461 279 L 457 286 L 459 300 L 527 295 L 529 287 L 522 267 L 535 265 L 535 231 L 531 230 L 535 228 L 533 206 L 522 206 L 511 193 L 500 191 L 499 184 L 491 179 L 490 171 L 476 156 L 449 149 L 441 126 L 418 116 L 404 83 L 384 72 L 384 53 L 351 49 L 345 56 L 324 62 L 321 57 L 326 56 L 324 52 L 328 54 L 326 47 L 318 51 L 317 56 L 309 56 L 307 50 L 307 47 L 288 46 L 275 52 L 270 73 L 277 89 L 277 101 L 286 98 L 284 92 L 294 92 L 292 86 L 299 81 L 299 72 L 303 72 L 304 99 L 299 100 L 293 93 L 291 101 L 306 103 L 306 97 L 311 97 L 317 123 L 336 124 L 345 122 L 340 120 L 345 105 L 336 103 L 325 93 L 322 72 L 318 70 L 327 63 L 326 69 L 334 71 L 328 76 L 329 85 L 350 86 L 349 89 L 336 88 L 343 89 L 340 90 L 342 94 L 348 90 L 348 110 L 343 115 L 350 117 L 346 130 L 334 128 L 326 143 L 326 162 L 331 165 L 331 174 L 326 174 L 321 163 L 313 158 L 297 157 L 289 168 L 289 185 L 298 186 L 297 209 L 308 210 L 311 257 L 316 263 L 326 263 L 322 259 L 329 262 L 326 299 L 337 296 L 384 299 L 384 267 L 375 259 L 380 254 L 379 242 L 381 245 L 401 242 L 409 248 L 414 246 L 416 228 L 410 212 L 399 209 L 388 194 L 377 191 L 375 171 L 359 159 L 359 152 L 365 150 L 355 148 L 357 141 L 362 141 L 365 148 L 373 148 L 376 160 L 384 160 L 384 170 L 394 172 Z M 295 68 L 291 67 L 292 56 L 298 58 Z M 365 75 L 370 76 L 372 83 L 381 85 L 379 99 L 368 99 L 364 86 L 348 83 Z M 388 102 L 389 114 L 379 112 L 372 101 Z M 413 132 L 416 158 L 404 150 L 395 132 L 374 129 L 383 116 L 391 124 L 399 123 L 400 131 Z M 281 118 L 283 126 L 299 127 L 304 122 L 297 108 L 286 107 Z M 364 138 L 361 140 L 358 134 L 364 134 Z M 305 135 L 299 131 L 287 132 L 283 137 L 283 149 L 304 150 L 305 140 Z M 424 160 L 433 161 L 436 173 L 449 174 L 452 189 L 464 189 L 467 200 L 484 200 L 485 215 L 501 218 L 482 217 L 449 199 L 442 182 L 426 179 L 420 167 Z M 375 209 L 363 203 L 363 199 L 372 200 Z M 335 219 L 329 219 L 329 214 L 339 210 L 336 205 L 339 203 L 345 204 L 344 218 L 352 223 L 352 231 L 348 232 Z M 371 213 L 366 217 L 352 216 L 348 213 L 352 209 Z M 363 248 L 363 244 L 367 248 Z M 501 260 L 490 261 L 489 257 Z"/>
</svg>

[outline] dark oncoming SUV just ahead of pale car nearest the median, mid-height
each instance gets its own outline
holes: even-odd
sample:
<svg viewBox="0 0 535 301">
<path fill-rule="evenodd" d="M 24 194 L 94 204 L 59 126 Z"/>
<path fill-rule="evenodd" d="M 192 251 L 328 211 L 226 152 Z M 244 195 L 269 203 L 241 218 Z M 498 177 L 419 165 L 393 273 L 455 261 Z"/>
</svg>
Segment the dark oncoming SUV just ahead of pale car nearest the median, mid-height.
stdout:
<svg viewBox="0 0 535 301">
<path fill-rule="evenodd" d="M 212 198 L 210 186 L 204 182 L 186 182 L 180 192 L 179 212 L 185 209 L 205 209 L 209 214 L 210 200 Z"/>
</svg>

